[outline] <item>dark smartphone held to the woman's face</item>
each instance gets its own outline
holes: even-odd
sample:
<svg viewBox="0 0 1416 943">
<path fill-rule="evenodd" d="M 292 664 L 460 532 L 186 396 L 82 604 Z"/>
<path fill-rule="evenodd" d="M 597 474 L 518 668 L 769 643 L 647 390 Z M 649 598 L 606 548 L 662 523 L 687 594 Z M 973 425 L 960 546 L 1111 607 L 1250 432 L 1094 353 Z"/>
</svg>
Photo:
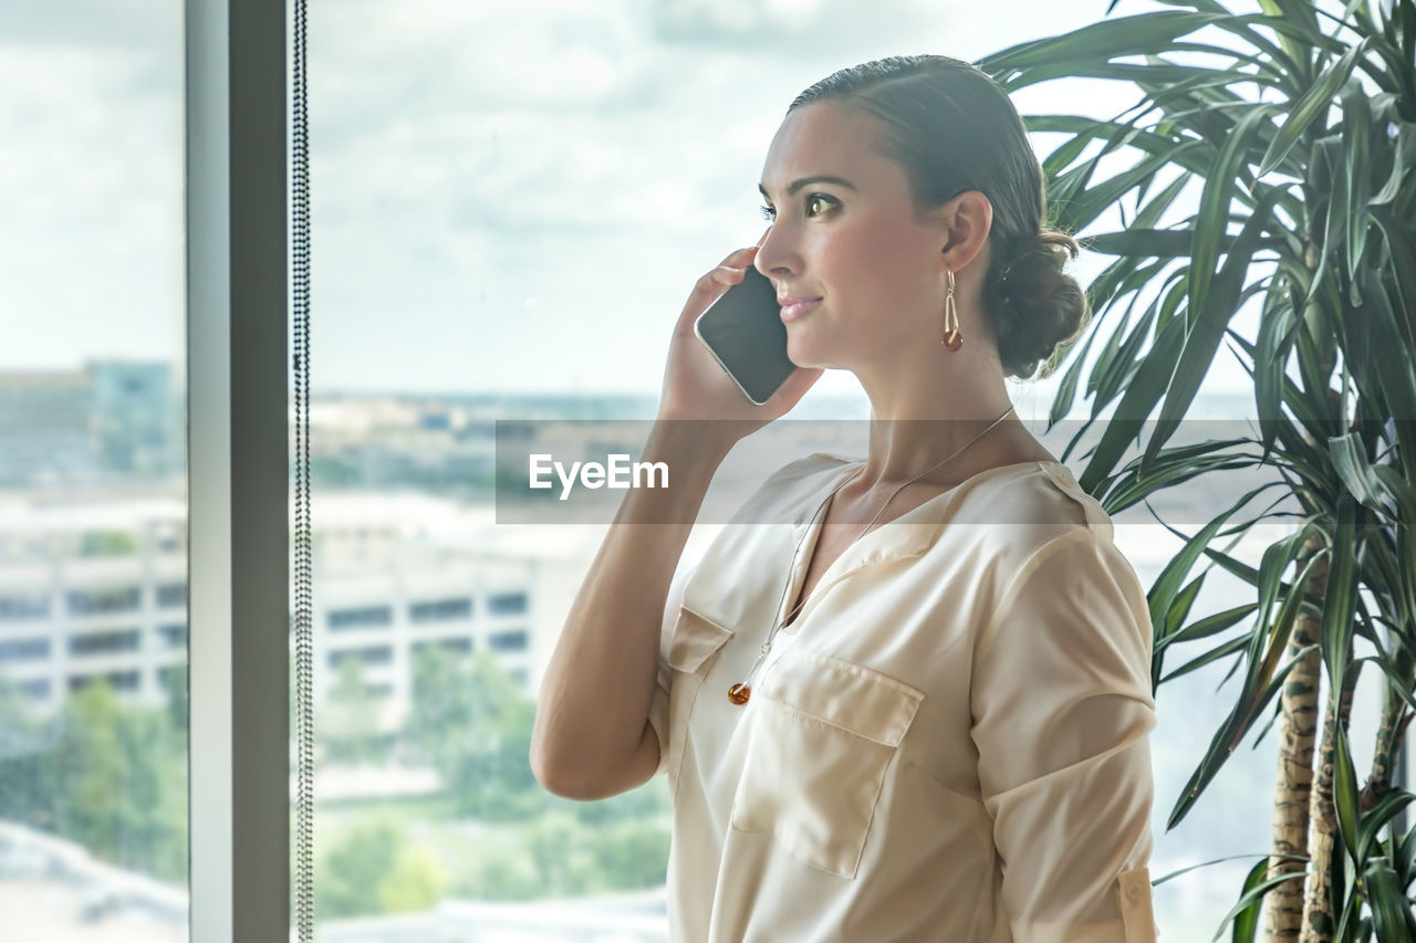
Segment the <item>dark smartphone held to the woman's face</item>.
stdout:
<svg viewBox="0 0 1416 943">
<path fill-rule="evenodd" d="M 777 290 L 753 265 L 694 320 L 694 334 L 758 406 L 797 368 L 787 358 L 787 326 L 782 323 Z"/>
</svg>

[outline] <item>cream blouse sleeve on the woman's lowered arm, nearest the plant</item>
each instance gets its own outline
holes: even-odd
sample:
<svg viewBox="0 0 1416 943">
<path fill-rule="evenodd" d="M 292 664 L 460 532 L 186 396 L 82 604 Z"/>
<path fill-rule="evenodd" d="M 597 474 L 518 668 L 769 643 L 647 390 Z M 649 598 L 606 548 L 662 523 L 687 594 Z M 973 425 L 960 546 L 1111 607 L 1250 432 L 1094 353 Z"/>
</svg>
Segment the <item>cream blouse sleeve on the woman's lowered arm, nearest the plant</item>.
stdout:
<svg viewBox="0 0 1416 943">
<path fill-rule="evenodd" d="M 1028 558 L 974 644 L 970 735 L 1015 943 L 1151 943 L 1153 630 L 1090 528 Z"/>
</svg>

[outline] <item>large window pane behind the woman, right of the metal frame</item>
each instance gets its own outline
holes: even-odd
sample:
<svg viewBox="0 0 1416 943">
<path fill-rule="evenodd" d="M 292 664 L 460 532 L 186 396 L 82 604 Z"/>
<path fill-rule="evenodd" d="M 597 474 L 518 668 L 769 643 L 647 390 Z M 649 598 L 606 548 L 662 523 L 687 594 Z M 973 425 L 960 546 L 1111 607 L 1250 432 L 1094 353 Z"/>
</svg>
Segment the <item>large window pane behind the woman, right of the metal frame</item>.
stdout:
<svg viewBox="0 0 1416 943">
<path fill-rule="evenodd" d="M 974 61 L 1082 25 L 1041 1 L 960 10 L 312 3 L 321 939 L 667 939 L 666 777 L 573 803 L 528 769 L 535 694 L 603 528 L 496 524 L 493 421 L 654 415 L 674 319 L 698 276 L 762 234 L 763 160 L 811 82 L 908 51 Z M 1079 79 L 1014 101 L 1109 119 L 1136 96 Z M 1106 263 L 1083 252 L 1075 272 L 1085 283 Z M 1042 432 L 1061 379 L 1010 389 L 1054 455 L 1076 432 Z M 1211 379 L 1199 415 L 1252 409 L 1238 364 Z M 837 370 L 793 418 L 867 415 Z M 685 562 L 715 531 L 695 530 Z M 1117 527 L 1146 588 L 1174 554 L 1165 534 Z M 1242 598 L 1212 575 L 1192 619 Z M 1158 694 L 1153 879 L 1267 847 L 1272 738 L 1236 752 L 1165 830 L 1223 718 L 1225 670 Z M 1208 940 L 1252 864 L 1157 888 L 1164 939 Z"/>
</svg>

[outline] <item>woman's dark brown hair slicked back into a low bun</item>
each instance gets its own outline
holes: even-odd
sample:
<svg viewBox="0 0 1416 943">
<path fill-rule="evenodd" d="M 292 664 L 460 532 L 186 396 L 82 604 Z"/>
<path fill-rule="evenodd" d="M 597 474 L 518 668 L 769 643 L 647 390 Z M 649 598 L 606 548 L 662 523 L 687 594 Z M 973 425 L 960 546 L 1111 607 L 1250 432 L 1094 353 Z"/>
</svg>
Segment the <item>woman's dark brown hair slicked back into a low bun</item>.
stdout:
<svg viewBox="0 0 1416 943">
<path fill-rule="evenodd" d="M 998 358 L 1010 377 L 1049 375 L 1054 351 L 1082 333 L 1090 309 L 1082 286 L 1062 272 L 1078 242 L 1048 227 L 1042 168 L 1007 92 L 961 59 L 892 55 L 828 75 L 787 113 L 817 101 L 854 105 L 884 122 L 877 149 L 903 168 L 916 217 L 966 190 L 988 197 L 984 310 Z"/>
</svg>

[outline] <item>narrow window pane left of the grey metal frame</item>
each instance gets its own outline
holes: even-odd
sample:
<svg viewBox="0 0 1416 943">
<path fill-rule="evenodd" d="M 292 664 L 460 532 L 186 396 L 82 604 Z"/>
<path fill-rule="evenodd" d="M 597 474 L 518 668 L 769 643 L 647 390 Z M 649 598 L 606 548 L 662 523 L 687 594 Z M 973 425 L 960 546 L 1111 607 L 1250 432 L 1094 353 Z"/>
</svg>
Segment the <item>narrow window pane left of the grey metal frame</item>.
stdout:
<svg viewBox="0 0 1416 943">
<path fill-rule="evenodd" d="M 0 4 L 0 915 L 187 939 L 181 3 Z"/>
</svg>

